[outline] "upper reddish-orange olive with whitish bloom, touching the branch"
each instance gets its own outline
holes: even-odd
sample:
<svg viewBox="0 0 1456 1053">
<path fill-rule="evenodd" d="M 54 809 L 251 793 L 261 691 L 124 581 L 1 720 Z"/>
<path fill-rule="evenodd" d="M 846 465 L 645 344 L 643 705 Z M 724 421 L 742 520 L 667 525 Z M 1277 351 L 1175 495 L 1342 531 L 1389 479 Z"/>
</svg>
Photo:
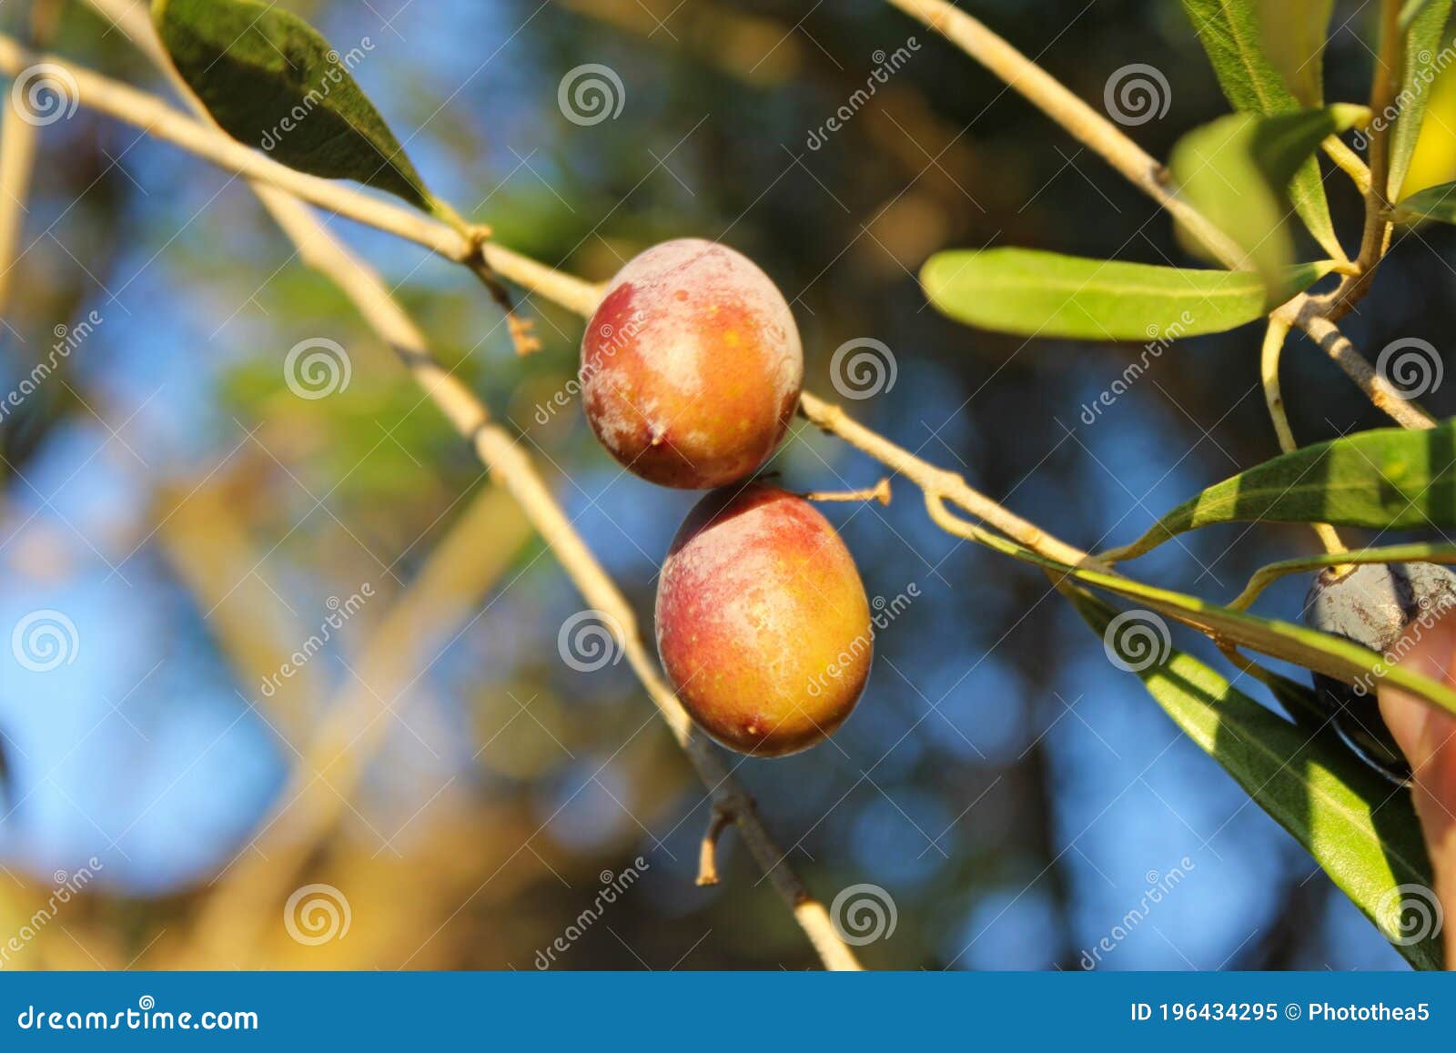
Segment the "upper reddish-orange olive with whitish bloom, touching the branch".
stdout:
<svg viewBox="0 0 1456 1053">
<path fill-rule="evenodd" d="M 779 447 L 804 386 L 799 331 L 747 256 L 664 242 L 630 259 L 581 342 L 582 405 L 625 468 L 662 486 L 709 489 Z"/>
</svg>

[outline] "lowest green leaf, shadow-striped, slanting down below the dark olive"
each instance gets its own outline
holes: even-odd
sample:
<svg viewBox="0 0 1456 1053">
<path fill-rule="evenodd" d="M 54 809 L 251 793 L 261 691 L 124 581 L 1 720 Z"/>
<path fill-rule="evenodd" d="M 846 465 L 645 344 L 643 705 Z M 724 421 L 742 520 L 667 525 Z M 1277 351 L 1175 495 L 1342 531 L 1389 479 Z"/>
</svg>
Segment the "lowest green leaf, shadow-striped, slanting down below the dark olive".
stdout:
<svg viewBox="0 0 1456 1053">
<path fill-rule="evenodd" d="M 1085 590 L 1064 593 L 1115 647 L 1108 628 L 1117 612 Z M 1163 661 L 1152 657 L 1127 655 L 1136 658 L 1127 664 L 1163 712 L 1303 845 L 1414 967 L 1441 969 L 1437 934 L 1402 939 L 1401 903 L 1409 887 L 1433 887 L 1411 795 L 1392 792 L 1329 737 L 1281 719 L 1197 658 L 1172 648 Z"/>
</svg>

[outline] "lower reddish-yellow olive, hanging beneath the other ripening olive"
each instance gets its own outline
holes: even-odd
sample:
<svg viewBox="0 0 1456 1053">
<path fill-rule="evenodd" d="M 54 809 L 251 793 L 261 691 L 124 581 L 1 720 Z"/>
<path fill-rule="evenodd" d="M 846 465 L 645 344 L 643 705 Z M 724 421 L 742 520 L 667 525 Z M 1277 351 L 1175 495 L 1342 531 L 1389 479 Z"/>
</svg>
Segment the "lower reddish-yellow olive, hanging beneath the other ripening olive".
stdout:
<svg viewBox="0 0 1456 1053">
<path fill-rule="evenodd" d="M 849 717 L 869 677 L 874 626 L 828 520 L 801 497 L 750 484 L 705 497 L 673 539 L 657 648 L 700 728 L 778 757 Z"/>
</svg>

